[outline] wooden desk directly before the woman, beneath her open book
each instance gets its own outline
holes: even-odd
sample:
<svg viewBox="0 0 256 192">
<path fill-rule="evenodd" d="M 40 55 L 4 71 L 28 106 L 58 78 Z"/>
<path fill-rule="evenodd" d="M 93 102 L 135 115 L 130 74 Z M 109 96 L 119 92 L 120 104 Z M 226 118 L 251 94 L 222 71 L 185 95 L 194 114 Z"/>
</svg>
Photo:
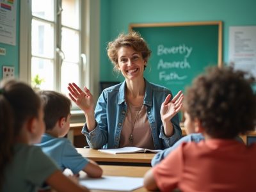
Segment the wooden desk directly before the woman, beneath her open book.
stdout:
<svg viewBox="0 0 256 192">
<path fill-rule="evenodd" d="M 156 154 L 151 153 L 135 153 L 135 154 L 107 154 L 92 148 L 76 148 L 77 152 L 83 157 L 92 159 L 99 164 L 111 165 L 135 165 L 135 166 L 151 166 L 151 159 Z"/>
</svg>

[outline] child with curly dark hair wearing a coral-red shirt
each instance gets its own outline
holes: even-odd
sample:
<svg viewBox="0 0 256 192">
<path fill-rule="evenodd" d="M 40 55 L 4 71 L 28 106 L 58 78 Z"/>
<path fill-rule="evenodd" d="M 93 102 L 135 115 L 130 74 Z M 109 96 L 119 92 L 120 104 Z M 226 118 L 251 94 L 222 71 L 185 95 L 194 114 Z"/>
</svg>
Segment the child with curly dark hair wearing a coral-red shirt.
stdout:
<svg viewBox="0 0 256 192">
<path fill-rule="evenodd" d="M 205 140 L 182 143 L 149 170 L 149 190 L 255 191 L 256 143 L 234 138 L 253 130 L 256 97 L 245 73 L 212 67 L 195 79 L 184 100 L 185 126 Z"/>
</svg>

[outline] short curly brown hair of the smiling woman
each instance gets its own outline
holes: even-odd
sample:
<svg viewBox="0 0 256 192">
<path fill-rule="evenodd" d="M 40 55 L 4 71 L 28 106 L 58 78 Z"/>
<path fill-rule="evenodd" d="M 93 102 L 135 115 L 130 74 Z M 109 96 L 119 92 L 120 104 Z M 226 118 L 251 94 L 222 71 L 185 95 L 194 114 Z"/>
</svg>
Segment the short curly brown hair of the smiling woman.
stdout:
<svg viewBox="0 0 256 192">
<path fill-rule="evenodd" d="M 140 33 L 131 31 L 127 35 L 120 33 L 118 37 L 112 42 L 108 43 L 108 57 L 114 65 L 114 70 L 118 66 L 118 51 L 121 47 L 128 46 L 132 47 L 134 51 L 141 52 L 143 60 L 146 62 L 150 57 L 151 51 L 148 48 L 147 42 L 141 37 Z"/>
</svg>

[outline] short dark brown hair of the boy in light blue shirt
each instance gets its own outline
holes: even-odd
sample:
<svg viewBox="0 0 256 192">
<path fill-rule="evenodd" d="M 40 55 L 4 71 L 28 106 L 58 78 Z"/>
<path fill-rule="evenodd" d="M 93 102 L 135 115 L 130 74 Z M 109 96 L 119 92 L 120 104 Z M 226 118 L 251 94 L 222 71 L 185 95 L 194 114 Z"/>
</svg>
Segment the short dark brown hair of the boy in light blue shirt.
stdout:
<svg viewBox="0 0 256 192">
<path fill-rule="evenodd" d="M 38 92 L 44 105 L 44 121 L 46 130 L 51 130 L 60 118 L 70 114 L 71 102 L 65 95 L 54 91 Z"/>
</svg>

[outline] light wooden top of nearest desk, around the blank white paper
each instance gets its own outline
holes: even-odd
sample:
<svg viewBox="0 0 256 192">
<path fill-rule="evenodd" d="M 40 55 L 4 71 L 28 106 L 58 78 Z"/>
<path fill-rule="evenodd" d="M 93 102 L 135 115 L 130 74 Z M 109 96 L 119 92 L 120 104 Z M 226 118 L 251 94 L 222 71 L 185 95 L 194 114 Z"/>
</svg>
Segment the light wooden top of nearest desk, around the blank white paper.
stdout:
<svg viewBox="0 0 256 192">
<path fill-rule="evenodd" d="M 103 170 L 103 175 L 108 176 L 123 176 L 123 177 L 143 177 L 150 169 L 148 166 L 114 166 L 114 165 L 100 165 Z M 83 173 L 82 173 L 83 174 Z M 83 175 L 81 175 L 83 178 Z M 92 192 L 101 192 L 104 190 L 91 190 Z M 147 189 L 139 188 L 135 192 L 145 192 Z"/>
</svg>

